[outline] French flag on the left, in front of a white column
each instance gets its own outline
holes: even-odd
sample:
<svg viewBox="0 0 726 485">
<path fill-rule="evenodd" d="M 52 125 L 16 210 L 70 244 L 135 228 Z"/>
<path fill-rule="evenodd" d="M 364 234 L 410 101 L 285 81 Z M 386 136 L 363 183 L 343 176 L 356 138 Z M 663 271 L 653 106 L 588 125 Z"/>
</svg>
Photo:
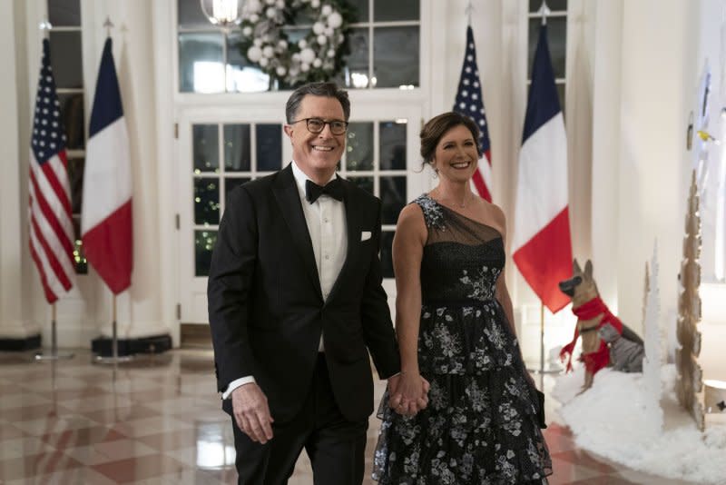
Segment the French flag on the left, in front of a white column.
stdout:
<svg viewBox="0 0 726 485">
<path fill-rule="evenodd" d="M 118 294 L 131 286 L 132 173 L 129 134 L 111 46 L 111 38 L 106 39 L 93 96 L 81 232 L 86 259 L 113 294 Z"/>
</svg>

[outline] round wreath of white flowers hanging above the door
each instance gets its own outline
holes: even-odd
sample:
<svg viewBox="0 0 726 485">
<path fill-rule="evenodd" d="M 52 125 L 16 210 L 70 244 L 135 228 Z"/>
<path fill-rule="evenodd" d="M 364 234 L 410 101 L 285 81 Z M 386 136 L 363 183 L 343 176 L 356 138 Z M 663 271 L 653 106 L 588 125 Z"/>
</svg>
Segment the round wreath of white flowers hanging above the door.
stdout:
<svg viewBox="0 0 726 485">
<path fill-rule="evenodd" d="M 291 42 L 283 26 L 303 14 L 309 32 Z M 324 81 L 338 73 L 348 49 L 349 11 L 339 0 L 248 0 L 240 25 L 240 51 L 251 64 L 284 84 Z"/>
</svg>

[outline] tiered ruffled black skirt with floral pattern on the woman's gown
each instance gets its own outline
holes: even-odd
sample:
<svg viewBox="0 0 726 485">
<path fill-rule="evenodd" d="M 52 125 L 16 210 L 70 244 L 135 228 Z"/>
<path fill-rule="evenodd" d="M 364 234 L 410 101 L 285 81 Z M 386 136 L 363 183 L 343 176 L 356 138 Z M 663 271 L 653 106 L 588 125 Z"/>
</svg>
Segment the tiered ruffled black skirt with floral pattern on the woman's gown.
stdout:
<svg viewBox="0 0 726 485">
<path fill-rule="evenodd" d="M 388 407 L 373 479 L 395 485 L 546 483 L 552 473 L 537 424 L 539 401 L 517 341 L 495 300 L 425 305 L 418 361 L 428 407 L 404 417 Z"/>
</svg>

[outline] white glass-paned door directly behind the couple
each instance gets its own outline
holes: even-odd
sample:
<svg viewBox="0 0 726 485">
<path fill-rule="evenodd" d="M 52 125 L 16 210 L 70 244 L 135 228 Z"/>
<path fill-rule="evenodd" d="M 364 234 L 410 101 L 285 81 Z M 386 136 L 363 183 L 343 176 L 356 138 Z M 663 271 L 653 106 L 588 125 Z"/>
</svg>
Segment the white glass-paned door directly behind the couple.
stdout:
<svg viewBox="0 0 726 485">
<path fill-rule="evenodd" d="M 428 175 L 420 171 L 418 155 L 420 109 L 378 108 L 354 109 L 339 173 L 383 201 L 381 259 L 393 308 L 390 247 L 397 215 L 427 190 Z M 178 317 L 184 323 L 208 322 L 207 275 L 227 196 L 240 183 L 280 170 L 291 158 L 281 109 L 214 111 L 211 116 L 209 109 L 190 109 L 179 123 Z"/>
</svg>

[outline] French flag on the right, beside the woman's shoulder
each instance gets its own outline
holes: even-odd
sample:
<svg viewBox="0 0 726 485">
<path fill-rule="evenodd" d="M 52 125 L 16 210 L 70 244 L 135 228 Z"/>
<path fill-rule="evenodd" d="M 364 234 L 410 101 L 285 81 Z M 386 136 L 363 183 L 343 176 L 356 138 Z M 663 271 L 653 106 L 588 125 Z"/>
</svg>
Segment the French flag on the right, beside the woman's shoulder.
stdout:
<svg viewBox="0 0 726 485">
<path fill-rule="evenodd" d="M 572 276 L 573 250 L 567 202 L 567 139 L 542 25 L 532 66 L 525 130 L 519 152 L 513 259 L 550 310 L 570 299 L 557 283 Z"/>
</svg>

